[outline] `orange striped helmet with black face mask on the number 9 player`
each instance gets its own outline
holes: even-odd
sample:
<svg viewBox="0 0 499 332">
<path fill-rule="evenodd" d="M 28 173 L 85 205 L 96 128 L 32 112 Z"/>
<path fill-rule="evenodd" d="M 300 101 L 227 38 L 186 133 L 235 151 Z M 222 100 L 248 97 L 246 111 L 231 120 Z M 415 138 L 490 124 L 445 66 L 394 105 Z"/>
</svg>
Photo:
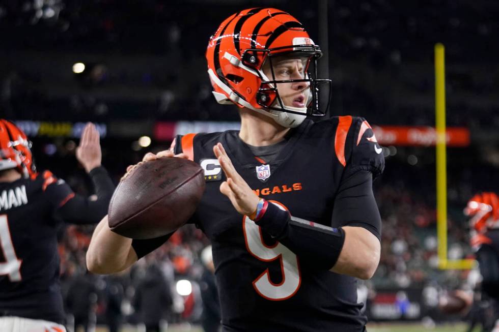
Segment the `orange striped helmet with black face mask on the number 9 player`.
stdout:
<svg viewBox="0 0 499 332">
<path fill-rule="evenodd" d="M 302 59 L 303 78 L 276 80 L 272 58 Z M 307 115 L 325 115 L 331 80 L 317 78 L 317 59 L 322 56 L 301 23 L 274 8 L 240 11 L 224 20 L 206 50 L 213 95 L 220 104 L 236 104 L 270 116 L 292 128 Z M 267 63 L 268 62 L 268 63 Z M 272 77 L 265 75 L 269 66 Z M 284 105 L 277 84 L 303 83 L 304 107 Z"/>
</svg>

